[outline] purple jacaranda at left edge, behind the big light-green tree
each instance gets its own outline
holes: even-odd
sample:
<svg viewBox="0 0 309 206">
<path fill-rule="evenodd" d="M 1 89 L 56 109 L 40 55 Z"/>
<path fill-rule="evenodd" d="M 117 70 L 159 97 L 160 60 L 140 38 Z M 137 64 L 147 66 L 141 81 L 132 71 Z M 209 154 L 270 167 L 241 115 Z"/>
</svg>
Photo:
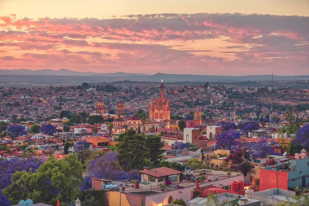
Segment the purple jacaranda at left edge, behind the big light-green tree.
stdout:
<svg viewBox="0 0 309 206">
<path fill-rule="evenodd" d="M 0 161 L 0 190 L 11 184 L 11 177 L 16 171 L 26 170 L 28 172 L 30 168 L 32 168 L 32 171 L 35 171 L 41 163 L 34 158 L 11 158 Z"/>
</svg>

